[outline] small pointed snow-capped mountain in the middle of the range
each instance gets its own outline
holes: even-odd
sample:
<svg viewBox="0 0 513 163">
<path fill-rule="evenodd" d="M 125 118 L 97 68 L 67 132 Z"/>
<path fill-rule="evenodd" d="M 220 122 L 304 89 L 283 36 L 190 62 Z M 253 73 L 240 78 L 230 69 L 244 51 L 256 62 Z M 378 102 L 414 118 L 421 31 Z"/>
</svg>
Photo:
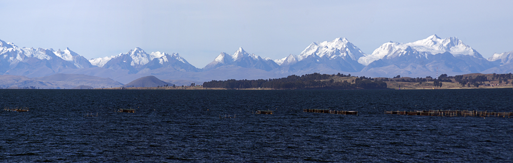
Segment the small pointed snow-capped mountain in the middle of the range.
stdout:
<svg viewBox="0 0 513 163">
<path fill-rule="evenodd" d="M 203 70 L 209 71 L 223 65 L 236 65 L 245 68 L 263 69 L 265 71 L 271 71 L 272 69 L 280 67 L 280 65 L 270 58 L 262 58 L 255 54 L 249 54 L 241 47 L 239 50 L 235 51 L 233 55 L 226 53 L 219 54 L 219 56 L 215 57 L 214 61 L 207 64 Z"/>
</svg>

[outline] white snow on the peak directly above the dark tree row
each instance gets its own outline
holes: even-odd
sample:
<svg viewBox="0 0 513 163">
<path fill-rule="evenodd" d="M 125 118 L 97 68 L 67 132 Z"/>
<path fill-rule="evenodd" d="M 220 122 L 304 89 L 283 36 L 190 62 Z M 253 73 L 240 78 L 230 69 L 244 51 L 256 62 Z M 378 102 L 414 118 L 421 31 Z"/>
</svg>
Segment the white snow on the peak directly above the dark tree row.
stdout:
<svg viewBox="0 0 513 163">
<path fill-rule="evenodd" d="M 357 47 L 349 42 L 346 38 L 336 38 L 333 41 L 312 42 L 301 54 L 298 60 L 301 61 L 308 56 L 318 55 L 319 57 L 327 57 L 334 59 L 342 57 L 344 59 L 358 60 L 365 54 Z"/>
</svg>

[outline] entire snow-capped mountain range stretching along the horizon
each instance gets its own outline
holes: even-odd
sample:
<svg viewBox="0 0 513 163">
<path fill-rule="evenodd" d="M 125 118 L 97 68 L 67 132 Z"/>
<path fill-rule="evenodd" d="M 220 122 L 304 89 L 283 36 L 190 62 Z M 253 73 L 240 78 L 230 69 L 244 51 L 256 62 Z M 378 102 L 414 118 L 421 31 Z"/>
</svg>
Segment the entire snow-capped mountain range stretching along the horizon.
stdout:
<svg viewBox="0 0 513 163">
<path fill-rule="evenodd" d="M 513 51 L 496 53 L 485 59 L 458 38 L 440 38 L 437 35 L 408 43 L 386 42 L 372 54 L 363 53 L 346 38 L 312 42 L 299 55 L 289 54 L 275 60 L 239 48 L 233 55 L 221 52 L 203 68 L 191 65 L 177 53 L 147 53 L 141 48 L 88 60 L 69 48 L 63 51 L 19 48 L 14 43 L 0 40 L 0 56 L 0 75 L 41 78 L 55 74 L 82 74 L 121 83 L 145 76 L 199 84 L 210 80 L 268 79 L 311 73 L 425 77 L 436 76 L 437 73 L 459 75 L 513 71 Z"/>
</svg>

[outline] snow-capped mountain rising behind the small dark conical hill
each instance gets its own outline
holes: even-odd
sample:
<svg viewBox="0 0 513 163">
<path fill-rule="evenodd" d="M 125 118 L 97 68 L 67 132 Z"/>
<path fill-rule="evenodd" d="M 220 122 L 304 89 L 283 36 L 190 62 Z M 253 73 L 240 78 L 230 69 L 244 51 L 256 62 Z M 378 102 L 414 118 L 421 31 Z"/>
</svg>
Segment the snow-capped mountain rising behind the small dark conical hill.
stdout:
<svg viewBox="0 0 513 163">
<path fill-rule="evenodd" d="M 199 70 L 177 53 L 151 52 L 148 54 L 141 48 L 135 48 L 114 57 L 96 58 L 90 61 L 103 68 L 127 69 L 129 74 L 135 74 L 146 68 L 153 70 L 163 67 L 172 67 L 181 72 L 197 72 Z"/>
</svg>

